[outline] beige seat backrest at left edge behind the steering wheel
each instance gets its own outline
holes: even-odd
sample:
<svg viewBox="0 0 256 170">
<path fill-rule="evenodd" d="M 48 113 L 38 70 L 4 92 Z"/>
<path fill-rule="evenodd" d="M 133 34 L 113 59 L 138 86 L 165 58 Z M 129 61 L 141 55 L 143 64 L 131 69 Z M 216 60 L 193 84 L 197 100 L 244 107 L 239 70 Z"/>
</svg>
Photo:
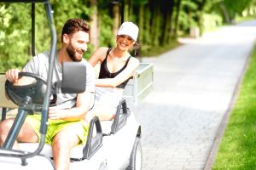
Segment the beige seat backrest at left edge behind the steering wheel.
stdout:
<svg viewBox="0 0 256 170">
<path fill-rule="evenodd" d="M 4 74 L 0 74 L 0 107 L 2 108 L 18 108 L 12 100 L 8 99 L 5 94 L 5 81 L 6 77 Z"/>
</svg>

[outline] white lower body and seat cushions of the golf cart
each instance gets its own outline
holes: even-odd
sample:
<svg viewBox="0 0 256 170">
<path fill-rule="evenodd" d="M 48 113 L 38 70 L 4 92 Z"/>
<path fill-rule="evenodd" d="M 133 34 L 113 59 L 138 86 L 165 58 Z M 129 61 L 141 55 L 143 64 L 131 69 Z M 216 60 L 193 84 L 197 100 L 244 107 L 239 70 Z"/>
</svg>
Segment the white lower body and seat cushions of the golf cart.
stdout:
<svg viewBox="0 0 256 170">
<path fill-rule="evenodd" d="M 110 132 L 112 122 L 101 122 L 103 133 Z M 140 125 L 136 121 L 134 115 L 127 118 L 127 122 L 124 127 L 121 127 L 119 131 L 110 136 L 104 136 L 102 138 L 102 147 L 100 147 L 96 153 L 90 157 L 90 159 L 84 159 L 81 161 L 72 161 L 70 164 L 71 170 L 79 169 L 125 169 L 129 165 L 131 151 L 135 140 L 137 139 L 137 133 L 140 130 Z M 34 151 L 38 148 L 38 144 L 20 144 L 20 150 Z M 72 150 L 72 158 L 81 158 L 83 156 L 83 146 L 77 146 Z M 0 153 L 7 150 L 0 150 Z M 141 151 L 141 150 L 138 150 Z M 11 152 L 10 152 L 11 153 Z M 137 153 L 137 156 L 140 153 Z M 20 158 L 7 158 L 0 156 L 1 169 L 54 169 L 53 163 L 50 159 L 52 156 L 51 146 L 44 144 L 44 149 L 40 153 L 41 156 L 33 156 L 28 158 L 27 165 L 22 166 Z M 141 159 L 141 158 L 140 158 Z M 139 163 L 139 162 L 138 162 Z"/>
</svg>

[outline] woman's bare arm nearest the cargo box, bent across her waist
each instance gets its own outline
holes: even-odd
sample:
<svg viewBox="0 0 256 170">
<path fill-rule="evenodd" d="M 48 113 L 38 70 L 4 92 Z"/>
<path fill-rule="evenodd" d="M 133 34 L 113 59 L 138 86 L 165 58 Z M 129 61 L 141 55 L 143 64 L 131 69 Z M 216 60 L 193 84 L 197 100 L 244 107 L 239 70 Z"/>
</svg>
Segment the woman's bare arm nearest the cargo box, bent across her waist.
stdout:
<svg viewBox="0 0 256 170">
<path fill-rule="evenodd" d="M 122 82 L 125 82 L 128 78 L 130 78 L 133 74 L 133 72 L 137 69 L 139 65 L 139 60 L 132 57 L 130 61 L 128 62 L 128 65 L 126 66 L 125 70 L 120 72 L 119 75 L 117 75 L 114 78 L 102 78 L 102 79 L 96 79 L 96 86 L 97 87 L 108 87 L 108 88 L 115 88 Z"/>
</svg>

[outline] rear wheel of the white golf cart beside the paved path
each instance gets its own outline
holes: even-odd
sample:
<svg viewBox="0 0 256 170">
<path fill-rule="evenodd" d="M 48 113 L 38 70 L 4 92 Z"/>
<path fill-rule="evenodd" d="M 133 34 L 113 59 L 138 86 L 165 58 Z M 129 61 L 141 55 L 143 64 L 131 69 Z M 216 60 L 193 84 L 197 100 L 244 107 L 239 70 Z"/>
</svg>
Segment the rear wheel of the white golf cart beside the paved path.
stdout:
<svg viewBox="0 0 256 170">
<path fill-rule="evenodd" d="M 135 139 L 131 156 L 130 163 L 126 170 L 141 170 L 143 167 L 143 149 L 141 139 L 138 137 Z"/>
</svg>

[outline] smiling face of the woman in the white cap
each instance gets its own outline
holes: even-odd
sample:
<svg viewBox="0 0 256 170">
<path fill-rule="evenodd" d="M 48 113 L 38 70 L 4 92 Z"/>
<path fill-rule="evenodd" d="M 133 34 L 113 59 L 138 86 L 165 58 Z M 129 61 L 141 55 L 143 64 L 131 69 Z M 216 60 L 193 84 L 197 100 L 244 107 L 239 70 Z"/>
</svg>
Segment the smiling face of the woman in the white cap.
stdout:
<svg viewBox="0 0 256 170">
<path fill-rule="evenodd" d="M 116 42 L 117 42 L 117 46 L 123 50 L 128 50 L 135 43 L 135 41 L 130 36 L 127 36 L 127 35 L 117 36 Z"/>
</svg>

